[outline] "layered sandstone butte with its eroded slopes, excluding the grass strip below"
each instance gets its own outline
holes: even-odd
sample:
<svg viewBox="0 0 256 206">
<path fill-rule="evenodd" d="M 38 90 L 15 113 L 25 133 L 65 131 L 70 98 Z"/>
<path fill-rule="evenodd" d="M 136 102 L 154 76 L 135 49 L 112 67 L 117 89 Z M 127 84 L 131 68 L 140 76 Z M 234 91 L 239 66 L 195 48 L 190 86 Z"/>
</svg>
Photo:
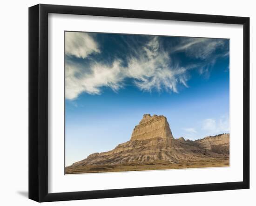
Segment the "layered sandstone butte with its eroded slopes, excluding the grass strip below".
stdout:
<svg viewBox="0 0 256 206">
<path fill-rule="evenodd" d="M 229 158 L 229 134 L 195 141 L 183 137 L 174 139 L 164 116 L 146 114 L 135 126 L 131 140 L 111 151 L 93 153 L 69 169 L 76 166 L 143 164 L 158 160 L 177 164 L 180 161 L 205 161 L 212 158 Z"/>
</svg>

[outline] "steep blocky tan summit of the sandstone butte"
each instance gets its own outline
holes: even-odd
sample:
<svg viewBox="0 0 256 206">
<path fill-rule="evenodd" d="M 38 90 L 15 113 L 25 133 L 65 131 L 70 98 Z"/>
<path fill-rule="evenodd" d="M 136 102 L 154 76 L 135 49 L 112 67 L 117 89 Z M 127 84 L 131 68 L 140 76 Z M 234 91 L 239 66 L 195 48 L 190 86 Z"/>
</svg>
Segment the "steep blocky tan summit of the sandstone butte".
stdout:
<svg viewBox="0 0 256 206">
<path fill-rule="evenodd" d="M 173 139 L 166 117 L 144 114 L 140 123 L 135 126 L 131 140 L 147 140 L 155 137 Z"/>
</svg>

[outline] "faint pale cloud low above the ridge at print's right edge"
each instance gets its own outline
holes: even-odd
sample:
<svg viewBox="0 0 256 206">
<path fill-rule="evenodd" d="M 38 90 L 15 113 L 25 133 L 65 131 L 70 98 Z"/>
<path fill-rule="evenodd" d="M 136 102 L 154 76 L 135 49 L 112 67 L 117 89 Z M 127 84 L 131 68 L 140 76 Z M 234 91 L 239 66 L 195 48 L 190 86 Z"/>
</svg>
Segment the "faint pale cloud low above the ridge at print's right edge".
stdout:
<svg viewBox="0 0 256 206">
<path fill-rule="evenodd" d="M 219 120 L 205 119 L 202 121 L 202 130 L 209 135 L 229 132 L 229 118 L 223 116 Z"/>
</svg>

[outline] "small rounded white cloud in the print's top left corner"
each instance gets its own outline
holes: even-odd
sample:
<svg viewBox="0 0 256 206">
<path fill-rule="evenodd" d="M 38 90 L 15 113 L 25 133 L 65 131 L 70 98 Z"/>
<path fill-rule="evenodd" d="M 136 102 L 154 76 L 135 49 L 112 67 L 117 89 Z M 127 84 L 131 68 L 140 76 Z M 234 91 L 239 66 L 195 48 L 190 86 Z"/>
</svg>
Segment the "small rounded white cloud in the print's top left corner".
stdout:
<svg viewBox="0 0 256 206">
<path fill-rule="evenodd" d="M 86 58 L 91 53 L 100 53 L 97 42 L 84 32 L 65 33 L 65 53 L 78 58 Z"/>
</svg>

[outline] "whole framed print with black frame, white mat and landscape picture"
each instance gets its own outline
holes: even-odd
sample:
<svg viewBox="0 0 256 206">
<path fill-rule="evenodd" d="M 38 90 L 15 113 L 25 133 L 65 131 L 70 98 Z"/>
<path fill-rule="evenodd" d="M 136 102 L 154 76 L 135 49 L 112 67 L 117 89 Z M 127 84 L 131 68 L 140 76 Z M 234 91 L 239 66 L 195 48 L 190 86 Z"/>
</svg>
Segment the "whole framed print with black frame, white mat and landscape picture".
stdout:
<svg viewBox="0 0 256 206">
<path fill-rule="evenodd" d="M 29 8 L 30 199 L 246 188 L 249 18 Z"/>
</svg>

